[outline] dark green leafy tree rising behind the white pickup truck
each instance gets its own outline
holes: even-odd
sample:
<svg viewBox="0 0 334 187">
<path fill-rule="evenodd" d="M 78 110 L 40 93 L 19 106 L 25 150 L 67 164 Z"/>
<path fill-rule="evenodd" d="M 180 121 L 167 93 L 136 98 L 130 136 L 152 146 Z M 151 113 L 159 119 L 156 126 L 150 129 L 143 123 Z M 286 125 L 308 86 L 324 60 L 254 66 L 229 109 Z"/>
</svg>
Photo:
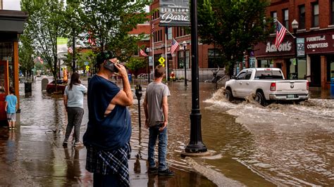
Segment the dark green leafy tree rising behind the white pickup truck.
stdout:
<svg viewBox="0 0 334 187">
<path fill-rule="evenodd" d="M 233 75 L 245 51 L 264 41 L 271 30 L 266 18 L 268 1 L 199 0 L 199 37 L 204 44 L 214 44 L 220 51 L 228 75 Z"/>
</svg>

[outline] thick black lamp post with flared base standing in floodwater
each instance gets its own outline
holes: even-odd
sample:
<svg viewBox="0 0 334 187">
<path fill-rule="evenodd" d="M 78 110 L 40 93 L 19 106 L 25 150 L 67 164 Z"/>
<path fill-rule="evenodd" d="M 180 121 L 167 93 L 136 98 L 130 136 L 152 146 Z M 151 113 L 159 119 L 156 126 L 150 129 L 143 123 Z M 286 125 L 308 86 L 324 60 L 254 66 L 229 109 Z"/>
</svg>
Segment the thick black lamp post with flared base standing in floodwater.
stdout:
<svg viewBox="0 0 334 187">
<path fill-rule="evenodd" d="M 197 0 L 191 1 L 192 30 L 192 112 L 190 114 L 190 143 L 186 153 L 203 153 L 207 148 L 202 142 L 201 118 L 199 111 L 199 67 L 198 67 L 198 34 L 197 34 Z"/>
</svg>

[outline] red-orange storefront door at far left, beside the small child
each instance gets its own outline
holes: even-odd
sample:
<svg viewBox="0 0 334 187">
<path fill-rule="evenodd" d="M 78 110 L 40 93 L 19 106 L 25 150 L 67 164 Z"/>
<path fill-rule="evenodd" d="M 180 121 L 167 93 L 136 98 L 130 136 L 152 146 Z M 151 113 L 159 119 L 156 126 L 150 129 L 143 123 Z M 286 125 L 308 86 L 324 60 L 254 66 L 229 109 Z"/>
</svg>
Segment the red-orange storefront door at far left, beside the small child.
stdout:
<svg viewBox="0 0 334 187">
<path fill-rule="evenodd" d="M 5 98 L 8 94 L 8 61 L 0 60 L 0 120 L 6 120 Z"/>
</svg>

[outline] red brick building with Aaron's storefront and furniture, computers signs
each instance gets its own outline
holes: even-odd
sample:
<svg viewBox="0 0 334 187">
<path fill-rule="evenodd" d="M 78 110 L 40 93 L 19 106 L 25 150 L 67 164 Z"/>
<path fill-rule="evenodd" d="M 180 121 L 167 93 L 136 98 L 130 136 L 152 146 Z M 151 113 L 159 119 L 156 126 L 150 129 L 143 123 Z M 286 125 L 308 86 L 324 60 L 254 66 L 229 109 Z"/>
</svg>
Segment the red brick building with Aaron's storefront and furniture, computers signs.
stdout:
<svg viewBox="0 0 334 187">
<path fill-rule="evenodd" d="M 297 72 L 298 79 L 307 78 L 310 86 L 328 89 L 334 77 L 334 0 L 272 0 L 266 11 L 268 17 L 277 18 L 298 39 L 304 39 L 304 55 L 293 60 L 296 41 L 288 33 L 276 49 L 273 33 L 265 44 L 255 46 L 256 66 L 280 67 L 288 79 Z M 296 33 L 293 20 L 299 23 Z"/>
</svg>

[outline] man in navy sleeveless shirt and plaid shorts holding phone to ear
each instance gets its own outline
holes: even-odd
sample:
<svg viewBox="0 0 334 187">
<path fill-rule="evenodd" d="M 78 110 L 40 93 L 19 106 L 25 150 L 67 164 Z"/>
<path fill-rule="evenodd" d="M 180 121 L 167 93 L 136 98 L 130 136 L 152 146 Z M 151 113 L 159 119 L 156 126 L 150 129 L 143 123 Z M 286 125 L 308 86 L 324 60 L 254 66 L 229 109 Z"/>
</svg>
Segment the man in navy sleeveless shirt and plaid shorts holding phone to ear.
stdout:
<svg viewBox="0 0 334 187">
<path fill-rule="evenodd" d="M 86 169 L 93 173 L 94 186 L 130 186 L 131 119 L 127 106 L 132 105 L 133 96 L 128 72 L 111 51 L 99 53 L 95 66 L 99 71 L 89 80 L 89 120 L 83 137 Z M 116 72 L 123 89 L 110 81 Z"/>
</svg>

